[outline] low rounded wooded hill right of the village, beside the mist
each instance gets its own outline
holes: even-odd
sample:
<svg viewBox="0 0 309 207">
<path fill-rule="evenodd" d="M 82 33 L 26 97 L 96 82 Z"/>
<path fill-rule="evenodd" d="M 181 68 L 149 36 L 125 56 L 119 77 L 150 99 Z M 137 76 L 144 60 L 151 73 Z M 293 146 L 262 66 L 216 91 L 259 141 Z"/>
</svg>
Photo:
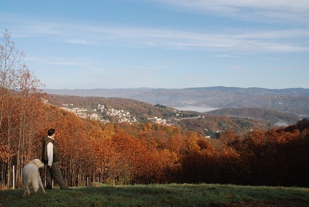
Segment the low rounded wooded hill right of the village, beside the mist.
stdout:
<svg viewBox="0 0 309 207">
<path fill-rule="evenodd" d="M 300 116 L 291 113 L 282 113 L 273 110 L 266 110 L 261 108 L 224 108 L 207 112 L 208 114 L 226 115 L 232 117 L 247 117 L 256 120 L 272 123 L 276 126 L 288 126 L 296 123 L 301 118 Z"/>
</svg>

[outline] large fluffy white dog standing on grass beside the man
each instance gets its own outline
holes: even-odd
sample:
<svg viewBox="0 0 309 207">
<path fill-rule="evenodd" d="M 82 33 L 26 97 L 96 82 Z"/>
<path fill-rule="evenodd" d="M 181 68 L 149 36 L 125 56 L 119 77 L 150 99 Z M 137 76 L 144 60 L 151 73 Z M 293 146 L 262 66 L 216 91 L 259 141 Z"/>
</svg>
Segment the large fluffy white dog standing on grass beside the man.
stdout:
<svg viewBox="0 0 309 207">
<path fill-rule="evenodd" d="M 44 164 L 39 159 L 34 159 L 30 163 L 28 163 L 22 169 L 22 178 L 24 179 L 25 184 L 25 192 L 22 196 L 30 195 L 29 187 L 32 186 L 33 191 L 36 193 L 38 188 L 42 188 L 43 193 L 45 194 L 45 190 L 43 188 L 41 177 L 38 173 L 39 168 L 43 168 Z"/>
</svg>

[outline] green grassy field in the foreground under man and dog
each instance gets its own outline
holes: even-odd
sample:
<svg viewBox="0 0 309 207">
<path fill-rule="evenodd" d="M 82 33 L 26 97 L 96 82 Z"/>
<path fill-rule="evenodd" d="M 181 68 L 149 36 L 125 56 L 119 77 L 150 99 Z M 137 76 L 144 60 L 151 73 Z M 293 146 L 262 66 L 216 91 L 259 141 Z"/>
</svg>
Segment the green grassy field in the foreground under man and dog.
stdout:
<svg viewBox="0 0 309 207">
<path fill-rule="evenodd" d="M 309 207 L 306 188 L 200 185 L 95 185 L 22 198 L 23 189 L 0 191 L 0 207 Z"/>
</svg>

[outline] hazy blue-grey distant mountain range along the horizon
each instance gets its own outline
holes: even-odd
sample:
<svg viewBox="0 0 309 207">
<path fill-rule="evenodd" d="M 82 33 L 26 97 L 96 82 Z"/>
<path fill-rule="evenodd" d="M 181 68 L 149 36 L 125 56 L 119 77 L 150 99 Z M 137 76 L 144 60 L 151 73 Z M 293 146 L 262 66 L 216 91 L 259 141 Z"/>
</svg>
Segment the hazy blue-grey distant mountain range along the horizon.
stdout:
<svg viewBox="0 0 309 207">
<path fill-rule="evenodd" d="M 47 94 L 121 97 L 162 104 L 186 111 L 207 112 L 222 108 L 262 108 L 309 116 L 309 89 L 204 87 L 184 89 L 46 89 Z M 249 115 L 248 115 L 249 116 Z"/>
</svg>

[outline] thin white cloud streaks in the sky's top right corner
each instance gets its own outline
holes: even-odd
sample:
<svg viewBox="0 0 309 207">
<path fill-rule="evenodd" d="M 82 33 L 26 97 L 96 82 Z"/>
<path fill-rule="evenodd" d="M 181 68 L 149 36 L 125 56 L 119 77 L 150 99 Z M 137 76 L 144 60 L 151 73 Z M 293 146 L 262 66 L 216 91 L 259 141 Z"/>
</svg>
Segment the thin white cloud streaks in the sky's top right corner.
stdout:
<svg viewBox="0 0 309 207">
<path fill-rule="evenodd" d="M 172 9 L 254 21 L 309 24 L 308 0 L 152 0 Z"/>
</svg>

